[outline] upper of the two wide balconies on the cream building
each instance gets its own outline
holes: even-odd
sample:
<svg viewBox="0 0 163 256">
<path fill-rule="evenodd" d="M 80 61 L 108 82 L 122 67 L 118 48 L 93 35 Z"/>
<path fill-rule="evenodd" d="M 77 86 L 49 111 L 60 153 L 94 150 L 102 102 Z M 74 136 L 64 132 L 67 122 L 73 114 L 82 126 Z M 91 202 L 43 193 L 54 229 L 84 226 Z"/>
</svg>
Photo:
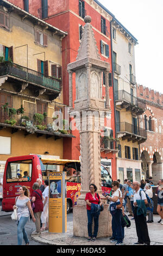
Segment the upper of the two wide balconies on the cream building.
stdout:
<svg viewBox="0 0 163 256">
<path fill-rule="evenodd" d="M 146 103 L 137 99 L 137 97 L 127 93 L 125 90 L 115 91 L 116 106 L 121 105 L 126 111 L 131 111 L 136 115 L 141 115 L 146 110 Z"/>
</svg>

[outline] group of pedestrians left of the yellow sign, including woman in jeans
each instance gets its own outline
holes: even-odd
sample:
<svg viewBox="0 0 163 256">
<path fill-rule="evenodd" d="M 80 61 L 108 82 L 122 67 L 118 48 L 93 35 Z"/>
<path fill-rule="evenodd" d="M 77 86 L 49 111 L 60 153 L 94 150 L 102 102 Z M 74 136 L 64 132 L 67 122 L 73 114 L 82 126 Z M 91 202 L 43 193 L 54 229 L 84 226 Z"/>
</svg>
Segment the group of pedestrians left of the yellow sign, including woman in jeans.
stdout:
<svg viewBox="0 0 163 256">
<path fill-rule="evenodd" d="M 25 225 L 30 216 L 35 223 L 36 230 L 33 235 L 40 235 L 41 231 L 48 230 L 48 180 L 42 185 L 42 180 L 37 179 L 33 184 L 33 193 L 30 196 L 26 186 L 19 188 L 20 196 L 16 197 L 13 209 L 17 209 L 17 243 L 22 245 L 23 240 L 29 245 Z"/>
</svg>

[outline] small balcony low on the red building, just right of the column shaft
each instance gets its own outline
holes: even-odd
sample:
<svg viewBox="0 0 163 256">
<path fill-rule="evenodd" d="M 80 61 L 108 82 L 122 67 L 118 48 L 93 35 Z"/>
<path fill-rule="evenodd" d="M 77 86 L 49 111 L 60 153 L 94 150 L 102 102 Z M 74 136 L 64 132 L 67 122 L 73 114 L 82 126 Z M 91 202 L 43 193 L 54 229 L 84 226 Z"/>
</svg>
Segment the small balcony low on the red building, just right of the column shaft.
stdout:
<svg viewBox="0 0 163 256">
<path fill-rule="evenodd" d="M 113 154 L 118 153 L 118 149 L 116 147 L 115 139 L 111 139 L 109 137 L 101 137 L 101 152 L 105 152 L 105 154 L 112 152 Z"/>
</svg>

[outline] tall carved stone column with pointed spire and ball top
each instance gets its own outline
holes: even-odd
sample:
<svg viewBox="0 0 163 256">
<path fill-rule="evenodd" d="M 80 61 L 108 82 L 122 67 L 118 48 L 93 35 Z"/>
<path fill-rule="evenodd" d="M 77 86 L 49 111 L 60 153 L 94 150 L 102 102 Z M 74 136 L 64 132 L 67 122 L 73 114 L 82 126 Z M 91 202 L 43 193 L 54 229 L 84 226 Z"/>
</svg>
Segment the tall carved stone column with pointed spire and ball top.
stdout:
<svg viewBox="0 0 163 256">
<path fill-rule="evenodd" d="M 110 111 L 109 106 L 109 70 L 110 65 L 103 62 L 99 56 L 95 36 L 90 24 L 91 17 L 86 16 L 82 41 L 78 50 L 76 62 L 67 65 L 70 88 L 70 114 L 76 112 L 80 133 L 81 160 L 81 195 L 73 208 L 73 234 L 87 237 L 87 212 L 85 195 L 91 183 L 97 186 L 97 193 L 104 203 L 104 210 L 99 216 L 97 237 L 110 236 L 111 215 L 108 205 L 102 196 L 101 188 L 101 124 L 104 126 L 104 113 Z M 72 102 L 72 73 L 76 73 L 76 100 L 74 109 Z M 102 97 L 102 72 L 106 78 L 106 106 Z"/>
</svg>

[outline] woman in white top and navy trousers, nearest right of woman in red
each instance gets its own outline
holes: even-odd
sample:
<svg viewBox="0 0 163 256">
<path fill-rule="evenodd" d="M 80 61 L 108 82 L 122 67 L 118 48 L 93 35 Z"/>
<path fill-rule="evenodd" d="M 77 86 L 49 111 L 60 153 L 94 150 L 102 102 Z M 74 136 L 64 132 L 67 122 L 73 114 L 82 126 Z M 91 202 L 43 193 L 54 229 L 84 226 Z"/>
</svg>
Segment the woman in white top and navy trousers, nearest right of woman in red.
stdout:
<svg viewBox="0 0 163 256">
<path fill-rule="evenodd" d="M 115 245 L 123 245 L 123 237 L 122 237 L 122 193 L 120 190 L 120 183 L 118 181 L 112 182 L 112 188 L 114 193 L 112 196 L 106 196 L 106 199 L 110 201 L 110 213 L 112 215 L 112 243 Z"/>
</svg>

